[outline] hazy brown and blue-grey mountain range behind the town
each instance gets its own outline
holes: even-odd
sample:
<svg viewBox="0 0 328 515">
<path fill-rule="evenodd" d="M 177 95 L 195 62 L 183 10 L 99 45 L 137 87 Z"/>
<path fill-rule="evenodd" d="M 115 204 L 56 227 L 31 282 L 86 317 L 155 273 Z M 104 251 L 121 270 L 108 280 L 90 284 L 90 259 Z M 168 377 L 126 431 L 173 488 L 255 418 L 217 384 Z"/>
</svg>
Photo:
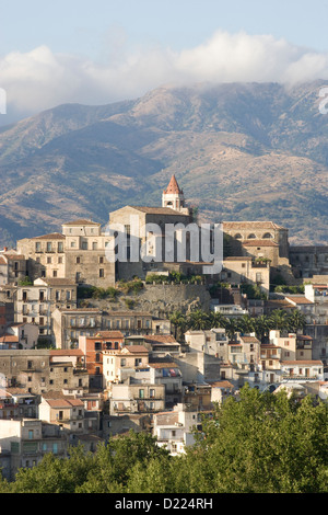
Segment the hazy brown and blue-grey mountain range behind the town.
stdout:
<svg viewBox="0 0 328 515">
<path fill-rule="evenodd" d="M 162 87 L 65 104 L 0 129 L 0 244 L 124 205 L 160 206 L 174 173 L 200 221 L 272 220 L 328 242 L 328 114 L 315 81 Z"/>
</svg>

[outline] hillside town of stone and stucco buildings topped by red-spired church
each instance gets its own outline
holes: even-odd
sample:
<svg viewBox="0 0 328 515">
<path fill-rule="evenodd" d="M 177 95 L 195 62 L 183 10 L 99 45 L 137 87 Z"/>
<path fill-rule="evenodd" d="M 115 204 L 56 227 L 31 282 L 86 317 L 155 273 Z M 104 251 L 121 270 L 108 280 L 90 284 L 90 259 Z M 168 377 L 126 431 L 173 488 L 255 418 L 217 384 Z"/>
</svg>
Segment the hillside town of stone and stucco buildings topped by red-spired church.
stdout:
<svg viewBox="0 0 328 515">
<path fill-rule="evenodd" d="M 166 260 L 169 244 L 155 229 L 176 225 Z M 161 206 L 109 214 L 121 240 L 75 219 L 2 250 L 5 478 L 49 451 L 65 457 L 78 443 L 94 451 L 129 430 L 184 453 L 202 414 L 246 384 L 327 402 L 328 247 L 291 245 L 274 220 L 222 221 L 218 268 L 200 252 L 195 259 L 189 225 L 201 229 L 172 175 Z M 125 259 L 113 259 L 121 242 Z"/>
</svg>

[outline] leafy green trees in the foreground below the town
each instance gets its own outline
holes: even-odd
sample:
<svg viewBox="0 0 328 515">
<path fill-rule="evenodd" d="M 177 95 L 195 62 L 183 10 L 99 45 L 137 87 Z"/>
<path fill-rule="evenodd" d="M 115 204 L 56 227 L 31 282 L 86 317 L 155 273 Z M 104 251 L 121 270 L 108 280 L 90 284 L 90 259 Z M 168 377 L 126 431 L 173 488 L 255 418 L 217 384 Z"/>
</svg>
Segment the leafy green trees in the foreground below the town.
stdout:
<svg viewBox="0 0 328 515">
<path fill-rule="evenodd" d="M 203 421 L 183 456 L 130 432 L 95 454 L 46 455 L 1 493 L 319 493 L 328 491 L 327 404 L 248 386 Z"/>
</svg>

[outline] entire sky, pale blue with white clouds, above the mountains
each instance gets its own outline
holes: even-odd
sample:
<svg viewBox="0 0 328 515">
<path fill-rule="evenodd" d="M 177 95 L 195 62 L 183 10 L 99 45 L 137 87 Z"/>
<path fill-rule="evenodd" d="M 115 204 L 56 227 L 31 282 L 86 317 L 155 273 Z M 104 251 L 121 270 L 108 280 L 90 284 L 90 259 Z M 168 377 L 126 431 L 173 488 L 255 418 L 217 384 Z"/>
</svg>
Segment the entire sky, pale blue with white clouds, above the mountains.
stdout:
<svg viewBox="0 0 328 515">
<path fill-rule="evenodd" d="M 0 125 L 166 84 L 328 80 L 328 0 L 0 0 Z"/>
</svg>

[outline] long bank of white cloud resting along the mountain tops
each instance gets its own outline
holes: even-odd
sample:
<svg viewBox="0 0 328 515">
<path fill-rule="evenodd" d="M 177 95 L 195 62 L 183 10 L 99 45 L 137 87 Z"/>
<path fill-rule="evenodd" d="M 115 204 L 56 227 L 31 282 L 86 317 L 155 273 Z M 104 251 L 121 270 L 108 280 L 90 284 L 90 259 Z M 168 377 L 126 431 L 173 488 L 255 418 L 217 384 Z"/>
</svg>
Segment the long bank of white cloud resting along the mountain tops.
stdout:
<svg viewBox="0 0 328 515">
<path fill-rule="evenodd" d="M 105 64 L 54 54 L 46 46 L 0 57 L 7 111 L 22 116 L 61 103 L 94 105 L 134 99 L 166 83 L 315 79 L 328 79 L 328 53 L 244 32 L 219 31 L 202 45 L 179 53 L 159 47 L 122 50 Z"/>
</svg>

